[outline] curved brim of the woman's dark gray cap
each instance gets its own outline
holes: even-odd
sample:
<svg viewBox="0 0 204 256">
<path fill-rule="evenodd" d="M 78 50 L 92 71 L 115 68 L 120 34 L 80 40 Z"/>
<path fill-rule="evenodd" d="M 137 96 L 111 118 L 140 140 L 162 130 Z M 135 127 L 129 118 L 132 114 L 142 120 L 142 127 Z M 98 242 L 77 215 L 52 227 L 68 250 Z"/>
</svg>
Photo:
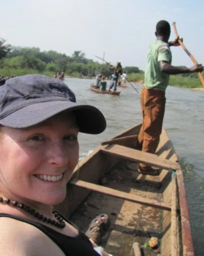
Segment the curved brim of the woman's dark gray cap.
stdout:
<svg viewBox="0 0 204 256">
<path fill-rule="evenodd" d="M 106 128 L 105 117 L 99 109 L 71 101 L 47 101 L 30 104 L 0 119 L 0 124 L 12 128 L 27 128 L 65 110 L 75 112 L 80 132 L 98 134 Z"/>
</svg>

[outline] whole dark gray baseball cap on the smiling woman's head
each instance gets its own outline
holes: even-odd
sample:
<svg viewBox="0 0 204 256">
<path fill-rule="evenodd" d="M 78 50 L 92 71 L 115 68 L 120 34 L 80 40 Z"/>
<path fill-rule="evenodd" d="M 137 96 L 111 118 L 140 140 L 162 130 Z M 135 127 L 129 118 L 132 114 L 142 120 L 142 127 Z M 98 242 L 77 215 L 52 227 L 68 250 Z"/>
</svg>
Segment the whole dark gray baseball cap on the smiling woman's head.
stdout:
<svg viewBox="0 0 204 256">
<path fill-rule="evenodd" d="M 106 120 L 94 106 L 77 104 L 75 94 L 60 79 L 44 75 L 23 75 L 0 86 L 0 124 L 27 128 L 60 113 L 73 111 L 79 131 L 98 134 Z"/>
</svg>

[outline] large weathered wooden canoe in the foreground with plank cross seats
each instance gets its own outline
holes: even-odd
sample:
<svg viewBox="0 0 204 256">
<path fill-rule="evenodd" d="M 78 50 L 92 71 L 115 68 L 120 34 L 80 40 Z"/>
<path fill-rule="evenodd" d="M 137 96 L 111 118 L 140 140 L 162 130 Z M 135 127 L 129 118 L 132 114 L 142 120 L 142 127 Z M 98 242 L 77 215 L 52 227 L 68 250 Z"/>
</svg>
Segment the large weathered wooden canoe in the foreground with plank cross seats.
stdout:
<svg viewBox="0 0 204 256">
<path fill-rule="evenodd" d="M 171 140 L 163 129 L 156 154 L 141 152 L 140 127 L 101 143 L 81 160 L 57 209 L 84 232 L 93 218 L 108 214 L 111 225 L 101 245 L 110 254 L 139 255 L 136 244 L 137 251 L 143 246 L 142 255 L 155 255 L 145 245 L 157 237 L 160 255 L 192 256 L 184 179 Z M 160 167 L 159 176 L 138 174 L 139 162 Z"/>
</svg>

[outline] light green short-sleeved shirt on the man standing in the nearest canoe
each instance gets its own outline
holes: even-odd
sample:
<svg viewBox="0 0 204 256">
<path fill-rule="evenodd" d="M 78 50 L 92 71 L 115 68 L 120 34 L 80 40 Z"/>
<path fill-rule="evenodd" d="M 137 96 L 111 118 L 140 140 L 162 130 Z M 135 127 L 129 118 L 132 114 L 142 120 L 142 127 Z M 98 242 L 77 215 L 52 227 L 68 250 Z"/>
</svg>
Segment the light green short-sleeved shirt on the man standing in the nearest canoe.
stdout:
<svg viewBox="0 0 204 256">
<path fill-rule="evenodd" d="M 159 61 L 171 64 L 172 55 L 167 43 L 156 40 L 148 49 L 145 69 L 145 87 L 147 89 L 166 90 L 169 83 L 169 75 L 160 70 Z"/>
</svg>

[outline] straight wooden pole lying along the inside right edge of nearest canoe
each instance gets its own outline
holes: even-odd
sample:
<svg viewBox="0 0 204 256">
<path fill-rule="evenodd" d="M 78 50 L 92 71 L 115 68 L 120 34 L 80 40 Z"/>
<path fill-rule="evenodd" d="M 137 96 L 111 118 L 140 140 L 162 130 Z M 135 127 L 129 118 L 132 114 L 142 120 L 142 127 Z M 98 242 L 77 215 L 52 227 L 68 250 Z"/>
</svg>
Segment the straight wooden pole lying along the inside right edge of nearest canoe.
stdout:
<svg viewBox="0 0 204 256">
<path fill-rule="evenodd" d="M 177 256 L 177 233 L 176 233 L 176 174 L 172 174 L 172 197 L 171 197 L 171 255 Z"/>
</svg>

